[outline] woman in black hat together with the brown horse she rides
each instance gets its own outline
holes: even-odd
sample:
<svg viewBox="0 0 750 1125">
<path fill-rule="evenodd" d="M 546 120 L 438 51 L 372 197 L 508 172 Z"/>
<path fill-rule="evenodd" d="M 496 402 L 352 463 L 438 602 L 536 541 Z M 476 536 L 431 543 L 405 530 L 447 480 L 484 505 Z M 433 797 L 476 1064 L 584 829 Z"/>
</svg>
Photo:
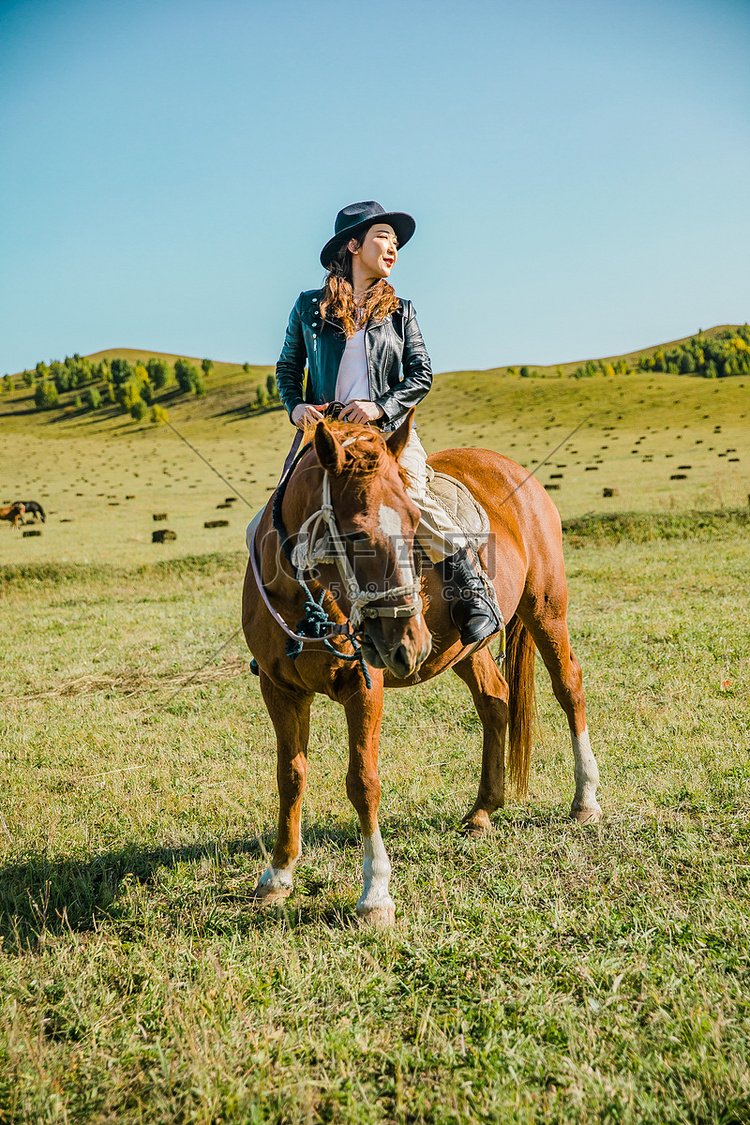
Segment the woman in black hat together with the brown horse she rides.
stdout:
<svg viewBox="0 0 750 1125">
<path fill-rule="evenodd" d="M 302 444 L 300 430 L 299 452 L 292 446 L 274 496 L 251 525 L 243 593 L 245 639 L 277 736 L 279 788 L 273 854 L 254 897 L 269 903 L 291 893 L 302 848 L 310 706 L 324 694 L 346 714 L 346 792 L 364 848 L 356 912 L 374 924 L 395 917 L 378 825 L 386 687 L 408 687 L 449 669 L 469 687 L 482 753 L 463 828 L 478 835 L 504 803 L 506 765 L 521 793 L 527 784 L 539 650 L 570 728 L 571 816 L 588 822 L 600 814 L 554 504 L 533 475 L 491 450 L 448 449 L 430 458 L 487 513 L 490 530 L 480 550 L 498 618 L 466 540 L 426 492 L 413 415 L 430 387 L 430 364 L 414 309 L 386 281 L 397 243 L 413 232 L 408 215 L 385 213 L 378 204 L 344 208 L 322 255 L 325 287 L 301 294 L 295 305 L 278 382 L 292 422 L 307 424 L 311 440 Z M 335 398 L 344 405 L 331 421 L 323 413 Z M 422 576 L 419 548 L 436 562 Z M 444 578 L 458 592 L 451 603 Z M 482 644 L 501 620 L 508 622 L 503 672 Z"/>
</svg>

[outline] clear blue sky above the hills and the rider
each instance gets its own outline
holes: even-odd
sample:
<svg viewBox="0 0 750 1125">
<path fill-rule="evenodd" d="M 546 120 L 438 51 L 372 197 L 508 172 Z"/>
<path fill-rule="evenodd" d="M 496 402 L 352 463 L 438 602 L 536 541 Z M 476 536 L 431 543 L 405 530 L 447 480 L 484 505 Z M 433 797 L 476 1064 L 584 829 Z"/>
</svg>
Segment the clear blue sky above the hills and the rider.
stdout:
<svg viewBox="0 0 750 1125">
<path fill-rule="evenodd" d="M 274 362 L 345 204 L 436 370 L 750 317 L 748 0 L 0 0 L 0 375 Z"/>
</svg>

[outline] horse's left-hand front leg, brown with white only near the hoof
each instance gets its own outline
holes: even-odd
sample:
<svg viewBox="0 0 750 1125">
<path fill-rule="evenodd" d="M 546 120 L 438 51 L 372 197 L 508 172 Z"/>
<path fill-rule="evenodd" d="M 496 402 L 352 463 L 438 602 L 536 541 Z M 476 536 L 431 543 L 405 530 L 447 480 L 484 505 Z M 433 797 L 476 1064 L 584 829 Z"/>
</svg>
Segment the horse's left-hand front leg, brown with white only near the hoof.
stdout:
<svg viewBox="0 0 750 1125">
<path fill-rule="evenodd" d="M 271 865 L 259 879 L 254 897 L 262 902 L 274 902 L 291 892 L 293 867 L 302 852 L 299 825 L 307 781 L 307 742 L 313 694 L 279 687 L 263 672 L 260 680 L 261 692 L 277 736 L 279 831 Z"/>
</svg>

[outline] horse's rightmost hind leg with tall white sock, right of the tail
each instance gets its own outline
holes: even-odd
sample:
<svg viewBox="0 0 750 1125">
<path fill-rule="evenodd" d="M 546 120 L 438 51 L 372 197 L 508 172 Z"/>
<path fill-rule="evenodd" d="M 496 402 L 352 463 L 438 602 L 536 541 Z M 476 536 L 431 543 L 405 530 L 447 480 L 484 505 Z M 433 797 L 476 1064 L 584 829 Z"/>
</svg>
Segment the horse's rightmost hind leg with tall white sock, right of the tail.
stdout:
<svg viewBox="0 0 750 1125">
<path fill-rule="evenodd" d="M 567 603 L 567 598 L 563 604 Z M 524 621 L 552 681 L 552 691 L 566 712 L 572 741 L 576 795 L 570 816 L 579 824 L 591 824 L 602 816 L 596 790 L 599 768 L 591 750 L 586 726 L 586 700 L 580 664 L 570 647 L 564 609 L 553 612 L 549 603 L 540 613 L 524 614 Z"/>
</svg>

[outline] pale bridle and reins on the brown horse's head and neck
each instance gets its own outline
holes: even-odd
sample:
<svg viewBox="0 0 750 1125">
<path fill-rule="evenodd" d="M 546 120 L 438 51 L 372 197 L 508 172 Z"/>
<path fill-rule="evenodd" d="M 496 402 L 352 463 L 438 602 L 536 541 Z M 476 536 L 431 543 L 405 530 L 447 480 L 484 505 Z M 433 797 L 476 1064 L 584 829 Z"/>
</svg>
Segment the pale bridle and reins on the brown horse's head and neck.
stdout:
<svg viewBox="0 0 750 1125">
<path fill-rule="evenodd" d="M 350 441 L 355 440 L 355 438 L 350 439 Z M 305 644 L 311 640 L 328 640 L 332 637 L 347 637 L 352 639 L 363 631 L 364 621 L 368 619 L 414 618 L 418 613 L 422 613 L 423 605 L 419 593 L 419 580 L 406 583 L 391 590 L 372 590 L 372 584 L 370 584 L 367 590 L 362 590 L 354 567 L 350 562 L 349 555 L 346 554 L 346 537 L 342 533 L 336 521 L 336 513 L 331 497 L 331 477 L 326 470 L 324 470 L 323 474 L 320 507 L 314 512 L 313 515 L 308 516 L 307 520 L 305 520 L 304 524 L 299 529 L 299 532 L 297 533 L 297 542 L 295 547 L 291 549 L 289 548 L 289 539 L 281 520 L 281 500 L 283 498 L 283 493 L 286 492 L 289 478 L 297 467 L 297 462 L 308 448 L 309 447 L 304 447 L 299 451 L 299 454 L 290 467 L 287 477 L 279 485 L 273 505 L 273 524 L 281 540 L 284 554 L 287 555 L 291 566 L 295 568 L 297 582 L 306 593 L 306 597 L 313 601 L 313 594 L 307 584 L 308 579 L 306 576 L 318 566 L 335 564 L 352 608 L 346 621 L 341 624 L 336 624 L 331 621 L 331 629 L 325 634 L 309 637 L 302 633 L 293 632 L 281 614 L 278 613 L 278 611 L 271 605 L 260 573 L 260 566 L 255 557 L 255 536 L 257 534 L 257 529 L 255 529 L 253 540 L 250 544 L 250 558 L 253 568 L 253 576 L 260 595 L 273 620 L 283 629 L 288 637 L 292 638 L 295 641 Z M 373 602 L 378 602 L 387 597 L 410 597 L 410 601 L 405 605 L 372 604 Z"/>
</svg>

